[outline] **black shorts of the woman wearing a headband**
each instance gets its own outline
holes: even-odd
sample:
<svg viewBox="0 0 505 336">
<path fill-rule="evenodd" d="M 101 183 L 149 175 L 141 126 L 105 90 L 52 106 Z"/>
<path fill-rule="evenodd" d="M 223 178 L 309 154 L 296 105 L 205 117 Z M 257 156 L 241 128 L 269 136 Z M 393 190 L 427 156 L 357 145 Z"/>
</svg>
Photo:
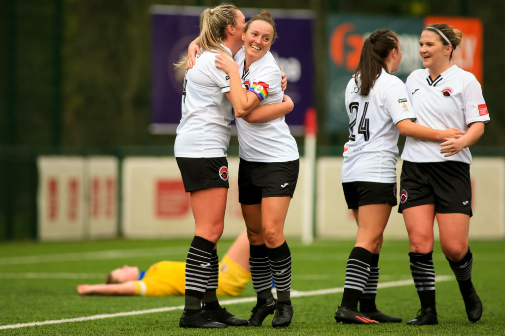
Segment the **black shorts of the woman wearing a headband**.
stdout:
<svg viewBox="0 0 505 336">
<path fill-rule="evenodd" d="M 435 213 L 471 217 L 470 165 L 458 161 L 403 161 L 398 212 L 425 204 L 435 204 Z"/>
</svg>

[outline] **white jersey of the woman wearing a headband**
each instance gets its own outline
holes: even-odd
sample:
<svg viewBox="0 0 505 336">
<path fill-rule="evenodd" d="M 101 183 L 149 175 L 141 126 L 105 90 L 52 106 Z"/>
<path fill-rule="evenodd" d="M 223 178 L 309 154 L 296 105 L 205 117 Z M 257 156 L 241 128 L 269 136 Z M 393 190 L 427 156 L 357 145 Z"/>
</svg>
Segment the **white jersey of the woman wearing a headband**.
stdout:
<svg viewBox="0 0 505 336">
<path fill-rule="evenodd" d="M 486 102 L 475 76 L 457 65 L 431 80 L 428 69 L 415 70 L 407 78 L 407 90 L 416 111 L 416 123 L 445 129 L 457 127 L 467 130 L 473 122 L 489 122 Z M 472 155 L 464 148 L 456 155 L 444 157 L 440 141 L 407 138 L 401 153 L 403 160 L 411 162 L 460 161 L 472 163 Z"/>
</svg>

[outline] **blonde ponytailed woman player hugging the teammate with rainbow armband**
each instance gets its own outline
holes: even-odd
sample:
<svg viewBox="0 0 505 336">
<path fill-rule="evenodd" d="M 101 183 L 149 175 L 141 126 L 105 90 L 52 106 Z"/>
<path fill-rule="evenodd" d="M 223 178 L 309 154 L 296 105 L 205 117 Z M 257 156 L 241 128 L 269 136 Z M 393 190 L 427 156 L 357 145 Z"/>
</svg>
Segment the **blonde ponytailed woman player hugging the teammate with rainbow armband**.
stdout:
<svg viewBox="0 0 505 336">
<path fill-rule="evenodd" d="M 184 188 L 190 192 L 195 235 L 186 258 L 181 327 L 247 324 L 245 319 L 222 308 L 216 296 L 219 274 L 216 244 L 224 229 L 229 187 L 226 151 L 233 114 L 226 96 L 228 80 L 223 71 L 216 69 L 214 55 L 235 54 L 243 45 L 244 25 L 245 17 L 234 5 L 206 9 L 200 16 L 199 42 L 203 52 L 184 76 L 182 115 L 174 152 Z M 176 69 L 183 70 L 186 64 L 187 57 L 182 58 Z M 292 109 L 292 102 L 287 106 Z"/>
</svg>

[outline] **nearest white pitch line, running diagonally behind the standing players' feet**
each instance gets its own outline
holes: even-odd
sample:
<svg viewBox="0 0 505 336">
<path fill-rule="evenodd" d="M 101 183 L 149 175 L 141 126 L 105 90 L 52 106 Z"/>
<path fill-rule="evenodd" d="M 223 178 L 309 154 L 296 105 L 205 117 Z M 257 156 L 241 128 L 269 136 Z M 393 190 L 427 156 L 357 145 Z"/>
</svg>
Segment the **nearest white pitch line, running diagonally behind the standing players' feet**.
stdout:
<svg viewBox="0 0 505 336">
<path fill-rule="evenodd" d="M 448 280 L 452 280 L 452 279 L 454 279 L 453 276 L 438 276 L 438 277 L 435 277 L 435 282 L 448 281 Z M 378 288 L 387 288 L 387 287 L 407 286 L 407 285 L 413 285 L 413 284 L 414 284 L 414 282 L 412 280 L 401 280 L 401 281 L 391 281 L 391 282 L 381 283 L 377 287 Z M 344 290 L 343 287 L 328 288 L 328 289 L 321 289 L 321 290 L 307 291 L 307 292 L 291 290 L 291 297 L 304 297 L 304 296 L 313 296 L 313 295 L 325 295 L 325 294 L 331 294 L 331 293 L 341 293 L 341 292 L 343 292 L 343 290 Z M 221 301 L 220 303 L 222 305 L 229 305 L 229 304 L 244 303 L 244 302 L 256 302 L 256 297 L 225 300 L 225 301 Z M 99 314 L 99 315 L 92 315 L 92 316 L 64 318 L 64 319 L 59 319 L 59 320 L 47 320 L 47 321 L 40 321 L 40 322 L 6 324 L 6 325 L 0 325 L 0 330 L 22 328 L 22 327 L 35 326 L 35 325 L 45 325 L 45 324 L 81 322 L 81 321 L 97 320 L 97 319 L 110 318 L 110 317 L 140 315 L 140 314 L 149 314 L 149 313 L 160 313 L 160 312 L 171 311 L 171 310 L 176 310 L 176 309 L 184 309 L 184 306 L 154 308 L 154 309 L 145 309 L 145 310 L 133 310 L 133 311 L 126 311 L 126 312 L 122 312 L 122 313 Z"/>
</svg>

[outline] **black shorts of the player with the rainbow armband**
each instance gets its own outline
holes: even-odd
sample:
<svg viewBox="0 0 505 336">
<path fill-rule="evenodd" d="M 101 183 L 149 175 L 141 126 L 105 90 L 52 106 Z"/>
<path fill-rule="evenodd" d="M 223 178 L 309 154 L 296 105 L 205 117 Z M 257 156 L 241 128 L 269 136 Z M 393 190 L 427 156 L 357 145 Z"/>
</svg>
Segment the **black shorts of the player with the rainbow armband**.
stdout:
<svg viewBox="0 0 505 336">
<path fill-rule="evenodd" d="M 238 165 L 238 201 L 260 204 L 264 197 L 293 197 L 300 160 L 288 162 L 250 162 Z"/>
</svg>

